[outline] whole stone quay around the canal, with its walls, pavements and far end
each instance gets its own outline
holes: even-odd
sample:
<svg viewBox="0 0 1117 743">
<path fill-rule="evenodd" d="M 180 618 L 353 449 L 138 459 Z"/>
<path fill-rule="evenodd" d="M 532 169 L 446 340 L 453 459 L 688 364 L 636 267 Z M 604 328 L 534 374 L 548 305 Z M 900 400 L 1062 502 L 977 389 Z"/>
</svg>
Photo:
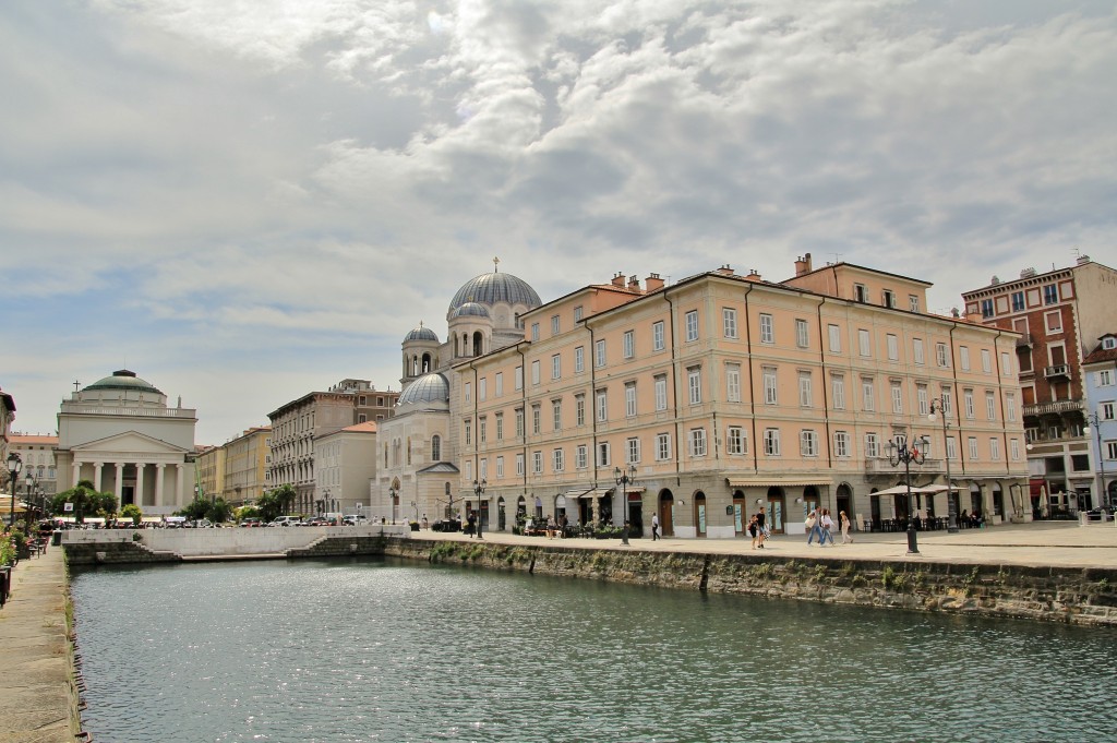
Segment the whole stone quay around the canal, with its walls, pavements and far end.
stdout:
<svg viewBox="0 0 1117 743">
<path fill-rule="evenodd" d="M 209 530 L 203 530 L 209 531 Z M 231 531 L 231 530 L 213 530 Z M 957 534 L 919 534 L 908 555 L 906 535 L 855 534 L 852 544 L 808 546 L 776 536 L 763 550 L 748 539 L 548 540 L 486 532 L 460 533 L 333 527 L 237 530 L 237 534 L 174 535 L 180 552 L 128 530 L 74 534 L 74 562 L 181 562 L 220 559 L 314 559 L 388 554 L 412 560 L 519 570 L 592 580 L 645 583 L 765 598 L 1025 618 L 1117 627 L 1117 528 L 1113 524 L 1033 523 Z M 286 531 L 286 530 L 285 530 Z M 258 532 L 258 534 L 252 534 Z M 65 536 L 70 536 L 66 534 Z M 252 543 L 259 542 L 259 550 Z M 221 553 L 227 543 L 230 551 Z M 163 544 L 160 546 L 172 546 Z M 22 560 L 9 602 L 0 609 L 0 743 L 74 741 L 78 687 L 67 627 L 63 550 Z M 80 740 L 79 737 L 77 740 Z"/>
</svg>

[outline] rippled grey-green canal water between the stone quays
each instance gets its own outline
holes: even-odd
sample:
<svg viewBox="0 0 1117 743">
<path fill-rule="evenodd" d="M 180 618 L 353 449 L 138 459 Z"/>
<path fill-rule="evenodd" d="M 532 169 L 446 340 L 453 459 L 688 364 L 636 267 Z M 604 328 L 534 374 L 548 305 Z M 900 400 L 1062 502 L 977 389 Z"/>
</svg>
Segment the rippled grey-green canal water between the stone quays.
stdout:
<svg viewBox="0 0 1117 743">
<path fill-rule="evenodd" d="M 1107 629 L 367 559 L 71 588 L 98 743 L 1117 735 Z"/>
</svg>

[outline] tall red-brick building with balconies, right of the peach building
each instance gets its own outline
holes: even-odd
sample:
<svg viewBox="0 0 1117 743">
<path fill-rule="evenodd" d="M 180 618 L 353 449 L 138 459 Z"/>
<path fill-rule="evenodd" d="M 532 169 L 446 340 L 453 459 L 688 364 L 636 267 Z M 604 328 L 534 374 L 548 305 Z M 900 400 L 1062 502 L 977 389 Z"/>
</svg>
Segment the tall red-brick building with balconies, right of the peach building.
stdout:
<svg viewBox="0 0 1117 743">
<path fill-rule="evenodd" d="M 966 316 L 1018 334 L 1016 363 L 1028 436 L 1030 493 L 1037 513 L 1099 505 L 1086 432 L 1082 360 L 1117 327 L 1117 270 L 1082 256 L 1075 266 L 964 293 Z"/>
</svg>

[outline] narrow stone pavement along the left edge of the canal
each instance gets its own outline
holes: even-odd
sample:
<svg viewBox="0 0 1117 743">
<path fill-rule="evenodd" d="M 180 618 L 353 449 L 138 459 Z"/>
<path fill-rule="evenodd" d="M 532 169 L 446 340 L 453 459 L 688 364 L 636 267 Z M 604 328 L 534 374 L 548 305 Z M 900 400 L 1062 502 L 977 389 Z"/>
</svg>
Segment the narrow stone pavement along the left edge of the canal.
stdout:
<svg viewBox="0 0 1117 743">
<path fill-rule="evenodd" d="M 74 741 L 63 550 L 20 560 L 0 609 L 0 743 Z"/>
</svg>

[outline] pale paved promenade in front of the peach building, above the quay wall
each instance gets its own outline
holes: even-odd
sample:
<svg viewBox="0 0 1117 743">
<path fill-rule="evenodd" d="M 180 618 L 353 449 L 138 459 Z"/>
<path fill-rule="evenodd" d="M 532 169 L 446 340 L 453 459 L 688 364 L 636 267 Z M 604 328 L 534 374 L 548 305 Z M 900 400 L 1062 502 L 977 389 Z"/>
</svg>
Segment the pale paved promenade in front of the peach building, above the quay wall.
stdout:
<svg viewBox="0 0 1117 743">
<path fill-rule="evenodd" d="M 471 541 L 465 534 L 442 534 L 423 531 L 419 539 Z M 1117 569 L 1117 527 L 1113 522 L 1102 526 L 1079 526 L 1078 522 L 1034 522 L 1004 524 L 991 528 L 965 528 L 956 534 L 945 531 L 918 532 L 918 555 L 907 554 L 907 534 L 855 532 L 852 544 L 824 547 L 808 546 L 805 536 L 776 535 L 763 550 L 753 550 L 750 537 L 733 540 L 630 540 L 624 546 L 619 539 L 548 540 L 545 536 L 519 536 L 502 532 L 485 532 L 486 541 L 502 544 L 558 545 L 594 550 L 655 550 L 700 552 L 709 554 L 777 555 L 782 558 L 818 558 L 827 560 L 885 560 L 913 562 L 980 563 L 995 565 L 1040 565 L 1061 568 Z"/>
</svg>

